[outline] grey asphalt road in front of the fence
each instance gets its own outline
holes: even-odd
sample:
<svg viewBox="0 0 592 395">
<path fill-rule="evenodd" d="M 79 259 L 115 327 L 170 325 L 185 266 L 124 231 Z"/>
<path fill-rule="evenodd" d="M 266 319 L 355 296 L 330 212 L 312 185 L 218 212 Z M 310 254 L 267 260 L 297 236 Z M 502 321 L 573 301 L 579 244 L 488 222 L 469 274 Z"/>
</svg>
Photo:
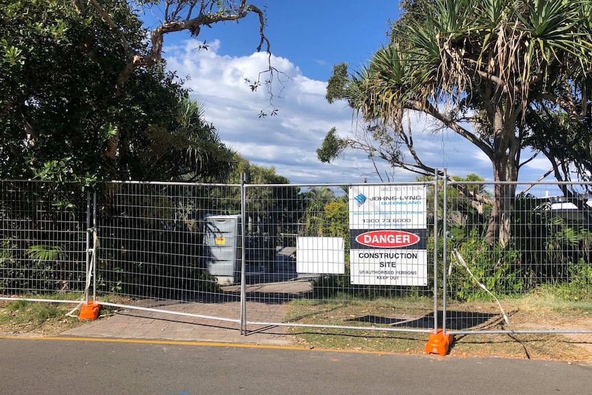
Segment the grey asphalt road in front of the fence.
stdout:
<svg viewBox="0 0 592 395">
<path fill-rule="evenodd" d="M 592 365 L 0 337 L 1 395 L 590 394 Z"/>
</svg>

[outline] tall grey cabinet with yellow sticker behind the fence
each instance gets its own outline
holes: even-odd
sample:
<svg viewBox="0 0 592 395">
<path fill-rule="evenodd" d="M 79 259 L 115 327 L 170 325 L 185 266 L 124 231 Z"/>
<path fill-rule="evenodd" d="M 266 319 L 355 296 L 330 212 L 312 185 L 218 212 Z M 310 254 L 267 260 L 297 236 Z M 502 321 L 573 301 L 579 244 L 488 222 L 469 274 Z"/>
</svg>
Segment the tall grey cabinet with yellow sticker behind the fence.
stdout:
<svg viewBox="0 0 592 395">
<path fill-rule="evenodd" d="M 240 215 L 206 215 L 203 244 L 209 274 L 220 284 L 240 282 Z"/>
</svg>

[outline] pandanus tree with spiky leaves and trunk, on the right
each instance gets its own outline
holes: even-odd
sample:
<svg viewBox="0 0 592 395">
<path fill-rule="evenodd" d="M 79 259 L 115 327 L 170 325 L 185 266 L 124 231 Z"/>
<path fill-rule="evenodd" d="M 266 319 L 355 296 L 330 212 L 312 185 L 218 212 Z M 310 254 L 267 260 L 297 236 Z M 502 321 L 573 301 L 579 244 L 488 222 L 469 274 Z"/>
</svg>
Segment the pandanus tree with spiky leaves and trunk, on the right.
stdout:
<svg viewBox="0 0 592 395">
<path fill-rule="evenodd" d="M 407 122 L 413 111 L 487 155 L 495 181 L 517 181 L 519 168 L 538 152 L 558 166 L 569 152 L 556 157 L 549 134 L 558 137 L 567 124 L 584 130 L 591 118 L 592 2 L 422 0 L 407 1 L 405 9 L 391 43 L 369 65 L 353 74 L 343 65 L 334 68 L 327 99 L 347 100 L 366 125 L 358 138 L 336 139 L 330 132 L 320 159 L 354 148 L 391 166 L 433 174 L 434 166 L 415 150 Z M 590 147 L 582 137 L 570 144 L 580 147 L 579 163 L 586 167 Z M 532 156 L 522 158 L 529 147 Z M 507 198 L 515 196 L 515 186 L 496 185 L 494 196 L 488 239 L 505 244 Z"/>
</svg>

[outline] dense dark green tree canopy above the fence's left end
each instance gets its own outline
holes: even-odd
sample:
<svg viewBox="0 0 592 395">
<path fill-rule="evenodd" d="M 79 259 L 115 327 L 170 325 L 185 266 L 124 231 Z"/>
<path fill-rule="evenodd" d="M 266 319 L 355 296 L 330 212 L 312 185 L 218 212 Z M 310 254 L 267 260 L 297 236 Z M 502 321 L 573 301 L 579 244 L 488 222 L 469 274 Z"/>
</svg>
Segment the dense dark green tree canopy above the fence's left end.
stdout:
<svg viewBox="0 0 592 395">
<path fill-rule="evenodd" d="M 0 3 L 0 177 L 229 176 L 234 153 L 183 80 L 165 71 L 163 36 L 197 36 L 202 25 L 258 14 L 264 45 L 259 8 L 205 0 L 137 1 L 139 8 L 126 0 Z M 137 12 L 157 6 L 163 19 L 148 34 Z"/>
</svg>

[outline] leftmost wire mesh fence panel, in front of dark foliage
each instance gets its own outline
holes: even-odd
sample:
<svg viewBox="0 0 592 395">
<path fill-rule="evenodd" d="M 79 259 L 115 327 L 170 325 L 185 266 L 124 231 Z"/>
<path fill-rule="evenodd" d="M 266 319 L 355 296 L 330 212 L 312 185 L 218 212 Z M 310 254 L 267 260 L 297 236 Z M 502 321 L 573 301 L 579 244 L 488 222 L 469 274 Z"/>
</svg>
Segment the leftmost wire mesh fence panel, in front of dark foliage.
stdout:
<svg viewBox="0 0 592 395">
<path fill-rule="evenodd" d="M 0 181 L 0 295 L 84 291 L 88 210 L 78 184 Z"/>
</svg>

